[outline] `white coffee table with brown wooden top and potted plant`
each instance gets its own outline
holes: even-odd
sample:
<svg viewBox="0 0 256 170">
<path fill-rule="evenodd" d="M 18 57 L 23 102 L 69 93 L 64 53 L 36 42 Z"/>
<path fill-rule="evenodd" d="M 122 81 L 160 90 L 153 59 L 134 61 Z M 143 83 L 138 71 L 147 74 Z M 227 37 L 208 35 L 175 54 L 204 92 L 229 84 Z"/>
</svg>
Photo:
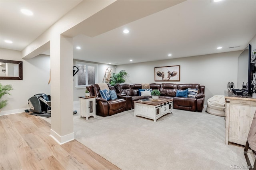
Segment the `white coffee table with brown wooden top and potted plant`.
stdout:
<svg viewBox="0 0 256 170">
<path fill-rule="evenodd" d="M 167 113 L 172 113 L 172 102 L 173 99 L 164 98 L 152 102 L 134 101 L 134 117 L 145 117 L 156 122 L 157 119 Z"/>
</svg>

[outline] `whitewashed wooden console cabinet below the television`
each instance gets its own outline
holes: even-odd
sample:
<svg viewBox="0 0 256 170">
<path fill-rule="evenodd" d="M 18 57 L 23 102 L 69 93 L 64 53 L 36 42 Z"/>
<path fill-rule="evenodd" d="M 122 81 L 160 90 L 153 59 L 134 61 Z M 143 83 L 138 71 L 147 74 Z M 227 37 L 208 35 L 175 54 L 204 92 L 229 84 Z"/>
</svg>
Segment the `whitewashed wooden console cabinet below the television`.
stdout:
<svg viewBox="0 0 256 170">
<path fill-rule="evenodd" d="M 256 99 L 237 97 L 225 91 L 226 140 L 244 145 L 256 110 Z"/>
</svg>

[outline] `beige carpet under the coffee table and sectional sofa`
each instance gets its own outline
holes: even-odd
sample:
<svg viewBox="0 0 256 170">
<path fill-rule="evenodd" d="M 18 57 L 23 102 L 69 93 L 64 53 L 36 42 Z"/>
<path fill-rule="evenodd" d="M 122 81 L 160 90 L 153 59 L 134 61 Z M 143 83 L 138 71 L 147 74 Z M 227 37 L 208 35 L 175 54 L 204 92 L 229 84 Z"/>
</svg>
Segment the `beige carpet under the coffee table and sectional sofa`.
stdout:
<svg viewBox="0 0 256 170">
<path fill-rule="evenodd" d="M 79 109 L 77 109 L 79 110 Z M 48 119 L 48 118 L 44 118 Z M 75 138 L 121 169 L 246 169 L 243 147 L 225 145 L 224 117 L 174 109 L 155 123 L 134 111 L 110 117 L 74 115 Z M 248 169 L 248 168 L 247 168 Z"/>
</svg>

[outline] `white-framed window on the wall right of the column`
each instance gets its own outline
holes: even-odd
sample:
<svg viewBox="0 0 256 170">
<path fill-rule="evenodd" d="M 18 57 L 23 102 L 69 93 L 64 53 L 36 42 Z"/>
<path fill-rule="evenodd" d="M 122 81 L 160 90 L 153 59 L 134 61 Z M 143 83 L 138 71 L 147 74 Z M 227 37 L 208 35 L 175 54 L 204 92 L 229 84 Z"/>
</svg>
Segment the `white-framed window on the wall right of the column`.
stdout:
<svg viewBox="0 0 256 170">
<path fill-rule="evenodd" d="M 76 88 L 85 88 L 98 81 L 98 64 L 76 61 L 76 67 L 78 67 Z"/>
</svg>

